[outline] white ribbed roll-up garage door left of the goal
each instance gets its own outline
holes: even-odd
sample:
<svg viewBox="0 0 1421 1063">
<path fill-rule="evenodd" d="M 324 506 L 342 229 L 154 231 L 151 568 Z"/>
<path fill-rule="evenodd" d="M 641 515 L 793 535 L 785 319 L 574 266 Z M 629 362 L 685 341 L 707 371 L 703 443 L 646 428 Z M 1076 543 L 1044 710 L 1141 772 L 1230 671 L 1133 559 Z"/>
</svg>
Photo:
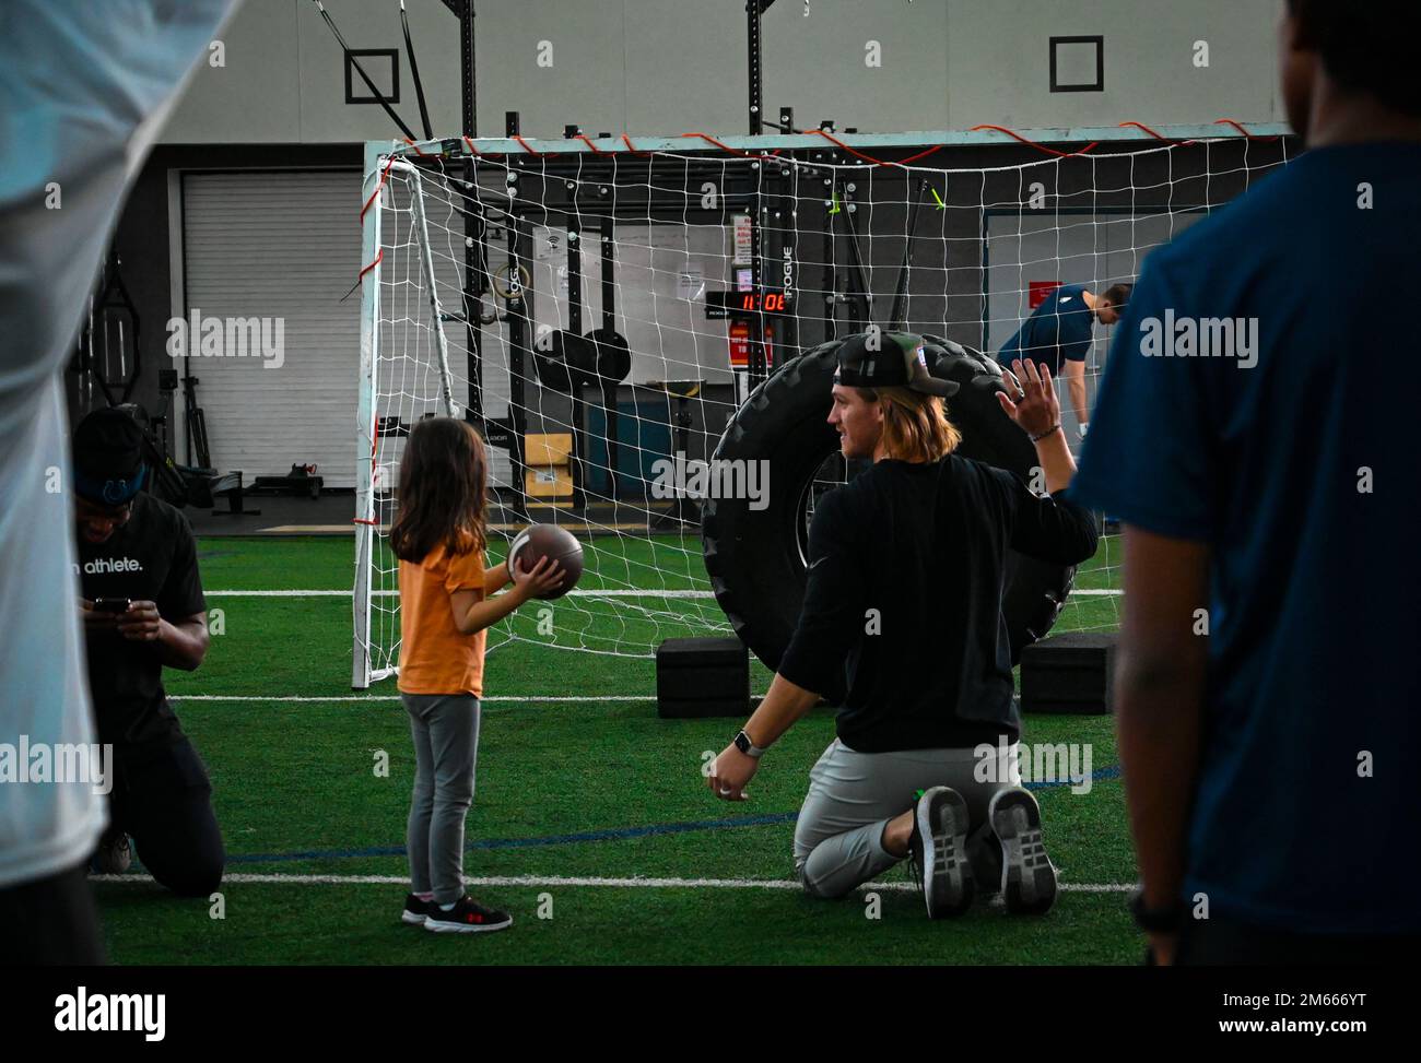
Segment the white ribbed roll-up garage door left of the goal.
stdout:
<svg viewBox="0 0 1421 1063">
<path fill-rule="evenodd" d="M 315 465 L 327 487 L 355 485 L 360 293 L 341 298 L 360 271 L 358 215 L 358 171 L 183 175 L 186 317 L 247 323 L 225 327 L 220 357 L 189 360 L 219 470 L 250 483 Z M 280 337 L 276 355 L 226 342 L 254 337 L 252 318 Z"/>
</svg>

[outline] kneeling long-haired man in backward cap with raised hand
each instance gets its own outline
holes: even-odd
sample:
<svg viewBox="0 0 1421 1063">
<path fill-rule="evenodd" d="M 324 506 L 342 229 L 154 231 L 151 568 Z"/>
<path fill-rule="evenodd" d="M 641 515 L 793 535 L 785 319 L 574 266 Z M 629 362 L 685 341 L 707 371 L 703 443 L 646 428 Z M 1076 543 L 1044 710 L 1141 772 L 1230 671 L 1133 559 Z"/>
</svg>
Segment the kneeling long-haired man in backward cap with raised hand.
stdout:
<svg viewBox="0 0 1421 1063">
<path fill-rule="evenodd" d="M 1084 561 L 1096 524 L 1063 495 L 1076 466 L 1050 369 L 1013 368 L 1015 396 L 998 401 L 1036 445 L 1049 496 L 952 453 L 942 398 L 956 385 L 928 372 L 918 337 L 871 331 L 840 347 L 828 422 L 845 458 L 874 465 L 816 507 L 794 637 L 709 776 L 719 797 L 743 799 L 764 749 L 820 692 L 847 686 L 794 830 L 816 897 L 911 856 L 929 918 L 961 914 L 979 885 L 1012 912 L 1056 900 L 1040 810 L 1020 786 L 1005 566 L 1009 550 Z"/>
</svg>

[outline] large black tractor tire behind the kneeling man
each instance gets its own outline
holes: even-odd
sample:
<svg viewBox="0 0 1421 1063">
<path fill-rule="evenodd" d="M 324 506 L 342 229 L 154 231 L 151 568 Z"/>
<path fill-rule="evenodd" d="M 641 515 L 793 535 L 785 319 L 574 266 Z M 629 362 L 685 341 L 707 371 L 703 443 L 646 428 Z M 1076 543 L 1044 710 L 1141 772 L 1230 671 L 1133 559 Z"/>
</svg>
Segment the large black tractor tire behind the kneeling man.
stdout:
<svg viewBox="0 0 1421 1063">
<path fill-rule="evenodd" d="M 962 432 L 958 453 L 1007 469 L 1023 480 L 1036 449 L 998 405 L 1002 369 L 990 358 L 941 337 L 925 337 L 935 377 L 961 388 L 948 416 Z M 715 458 L 770 462 L 767 506 L 747 499 L 706 499 L 702 540 L 716 601 L 740 640 L 774 671 L 789 647 L 809 583 L 804 513 L 814 473 L 838 450 L 827 423 L 836 354 L 841 341 L 814 347 L 783 364 L 757 387 L 726 426 Z M 1002 610 L 1012 664 L 1022 648 L 1050 631 L 1076 578 L 1074 566 L 1007 554 Z M 830 701 L 841 691 L 821 691 Z"/>
</svg>

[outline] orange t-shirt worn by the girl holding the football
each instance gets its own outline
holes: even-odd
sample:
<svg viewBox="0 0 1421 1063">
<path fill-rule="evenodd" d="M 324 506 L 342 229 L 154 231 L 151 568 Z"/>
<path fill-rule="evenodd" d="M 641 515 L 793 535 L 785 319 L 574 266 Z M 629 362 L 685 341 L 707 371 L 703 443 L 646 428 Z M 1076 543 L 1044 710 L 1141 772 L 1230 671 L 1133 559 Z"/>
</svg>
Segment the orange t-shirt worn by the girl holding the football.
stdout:
<svg viewBox="0 0 1421 1063">
<path fill-rule="evenodd" d="M 485 631 L 460 635 L 455 591 L 483 598 L 483 554 L 436 546 L 425 560 L 399 563 L 399 689 L 402 694 L 483 696 Z"/>
</svg>

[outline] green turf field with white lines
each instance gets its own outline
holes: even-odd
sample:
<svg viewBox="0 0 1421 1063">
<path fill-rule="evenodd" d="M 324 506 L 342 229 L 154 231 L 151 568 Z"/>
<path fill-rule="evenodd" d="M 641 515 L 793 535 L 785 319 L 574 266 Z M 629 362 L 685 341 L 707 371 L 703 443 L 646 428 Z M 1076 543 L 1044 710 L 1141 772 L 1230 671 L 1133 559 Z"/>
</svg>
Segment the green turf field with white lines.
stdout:
<svg viewBox="0 0 1421 1063">
<path fill-rule="evenodd" d="M 581 588 L 706 588 L 679 540 L 612 537 L 595 547 Z M 1103 540 L 1077 587 L 1108 588 L 1115 553 Z M 350 539 L 318 537 L 210 539 L 199 550 L 209 591 L 344 590 L 351 556 Z M 230 857 L 225 918 L 212 918 L 206 901 L 176 900 L 138 877 L 104 881 L 98 892 L 114 962 L 1125 964 L 1140 956 L 1118 890 L 1134 881 L 1134 865 L 1108 718 L 1026 722 L 1027 743 L 1090 743 L 1094 773 L 1104 776 L 1088 793 L 1037 790 L 1067 885 L 1054 911 L 1020 919 L 979 904 L 959 921 L 929 924 L 904 868 L 888 873 L 884 888 L 838 902 L 777 888 L 791 877 L 793 814 L 810 766 L 833 738 L 830 712 L 814 712 L 776 745 L 750 786 L 752 800 L 726 804 L 705 789 L 699 769 L 739 721 L 661 721 L 649 658 L 529 640 L 489 657 L 465 861 L 475 880 L 497 880 L 470 892 L 512 911 L 514 928 L 469 938 L 404 927 L 405 885 L 395 880 L 406 871 L 414 755 L 394 682 L 350 689 L 350 598 L 213 594 L 209 607 L 222 610 L 225 632 L 213 637 L 199 672 L 169 672 L 168 688 L 212 772 Z M 713 601 L 686 608 L 715 614 Z M 1117 610 L 1117 598 L 1081 595 L 1057 630 L 1111 627 Z M 608 634 L 603 628 L 617 621 L 567 601 L 554 605 L 554 627 L 564 620 L 580 632 L 574 644 L 639 638 L 655 627 L 641 620 Z M 536 637 L 531 627 L 519 631 Z M 756 662 L 752 688 L 767 685 Z M 375 772 L 382 753 L 388 775 Z"/>
</svg>

